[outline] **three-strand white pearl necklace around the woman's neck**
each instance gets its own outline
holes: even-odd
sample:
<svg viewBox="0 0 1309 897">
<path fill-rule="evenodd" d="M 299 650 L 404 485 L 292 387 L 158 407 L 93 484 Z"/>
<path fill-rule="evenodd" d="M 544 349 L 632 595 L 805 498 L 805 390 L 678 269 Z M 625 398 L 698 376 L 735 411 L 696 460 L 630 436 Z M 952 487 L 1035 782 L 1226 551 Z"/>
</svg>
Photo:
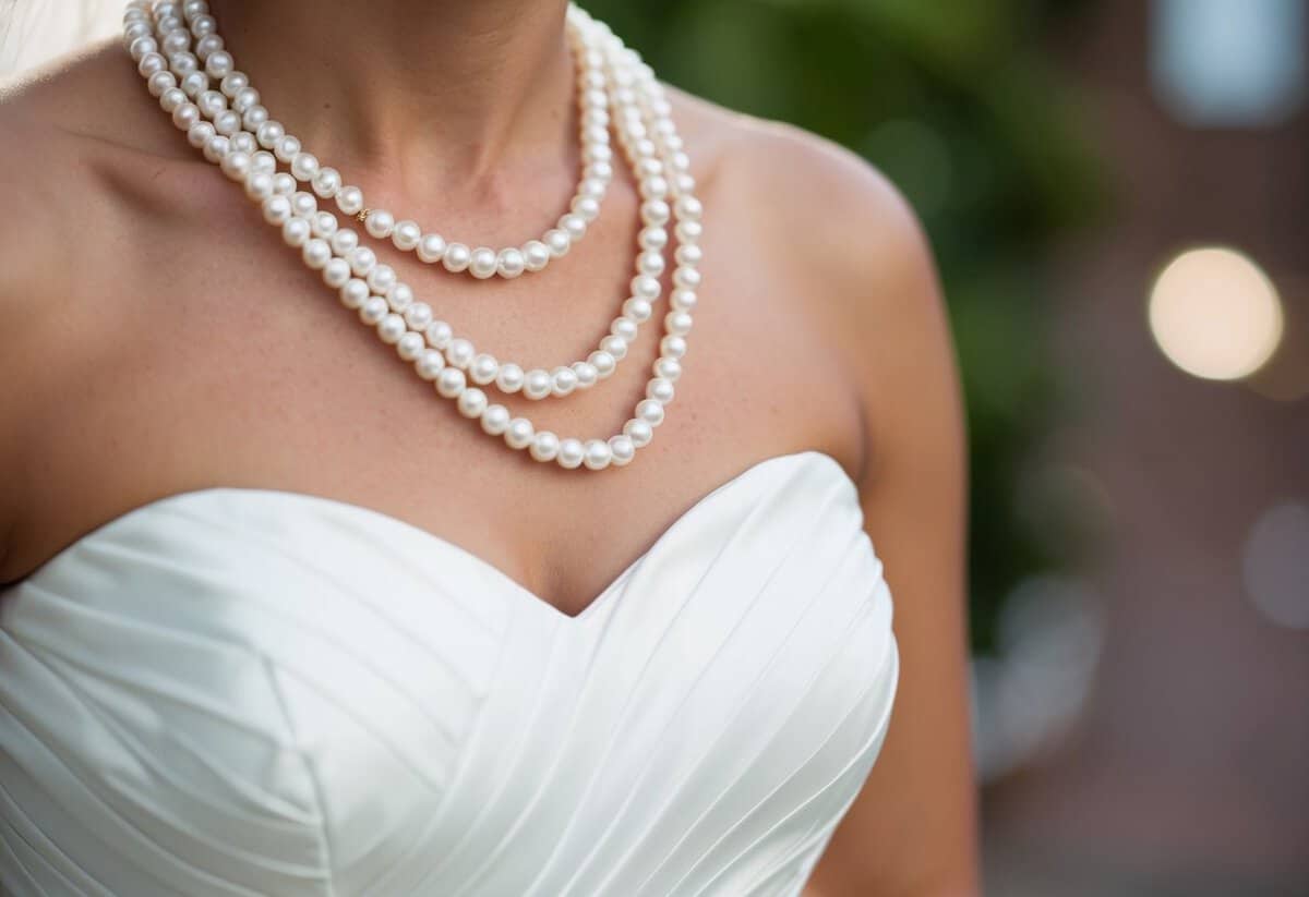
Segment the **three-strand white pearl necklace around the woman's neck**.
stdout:
<svg viewBox="0 0 1309 897">
<path fill-rule="evenodd" d="M 130 0 L 123 43 L 149 93 L 188 143 L 243 186 L 246 195 L 260 204 L 264 220 L 280 229 L 287 245 L 301 251 L 305 264 L 336 290 L 342 305 L 356 311 L 384 343 L 394 345 L 419 377 L 433 383 L 437 395 L 453 400 L 465 417 L 479 420 L 487 434 L 503 438 L 511 448 L 528 450 L 539 462 L 555 462 L 565 469 L 603 469 L 630 463 L 637 448 L 649 445 L 665 405 L 673 400 L 700 284 L 702 209 L 670 103 L 649 65 L 576 5 L 569 7 L 567 24 L 579 69 L 581 182 L 571 211 L 556 228 L 539 241 L 501 250 L 469 250 L 440 234 L 424 233 L 414 221 L 395 221 L 385 209 L 365 209 L 361 191 L 343 184 L 336 169 L 323 166 L 260 105 L 258 90 L 224 48 L 204 0 Z M 213 80 L 217 90 L 211 89 Z M 610 123 L 639 183 L 643 228 L 631 294 L 610 333 L 585 361 L 552 370 L 524 370 L 478 352 L 470 340 L 439 320 L 428 303 L 418 301 L 412 288 L 361 245 L 357 231 L 342 226 L 332 212 L 318 205 L 319 199 L 334 200 L 338 209 L 364 224 L 369 237 L 389 238 L 394 247 L 414 251 L 428 264 L 439 262 L 453 273 L 467 271 L 484 280 L 538 272 L 550 259 L 567 254 L 600 214 L 613 177 Z M 285 171 L 279 170 L 279 162 Z M 309 190 L 298 190 L 298 182 Z M 550 430 L 538 432 L 528 418 L 513 417 L 503 404 L 488 399 L 480 387 L 493 384 L 501 392 L 521 392 L 529 399 L 563 398 L 610 377 L 640 324 L 653 315 L 653 303 L 662 292 L 668 225 L 674 218 L 675 267 L 660 357 L 652 365 L 654 375 L 645 396 L 620 433 L 607 439 L 560 438 Z"/>
</svg>

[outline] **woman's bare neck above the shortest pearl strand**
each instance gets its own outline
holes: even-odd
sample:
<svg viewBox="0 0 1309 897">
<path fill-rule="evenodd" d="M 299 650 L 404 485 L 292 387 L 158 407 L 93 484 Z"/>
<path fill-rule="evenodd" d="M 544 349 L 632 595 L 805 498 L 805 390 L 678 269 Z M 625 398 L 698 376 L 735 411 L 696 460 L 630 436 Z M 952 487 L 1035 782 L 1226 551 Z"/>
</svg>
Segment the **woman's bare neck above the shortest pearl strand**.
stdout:
<svg viewBox="0 0 1309 897">
<path fill-rule="evenodd" d="M 325 163 L 428 188 L 567 152 L 567 0 L 211 0 L 226 47 Z"/>
</svg>

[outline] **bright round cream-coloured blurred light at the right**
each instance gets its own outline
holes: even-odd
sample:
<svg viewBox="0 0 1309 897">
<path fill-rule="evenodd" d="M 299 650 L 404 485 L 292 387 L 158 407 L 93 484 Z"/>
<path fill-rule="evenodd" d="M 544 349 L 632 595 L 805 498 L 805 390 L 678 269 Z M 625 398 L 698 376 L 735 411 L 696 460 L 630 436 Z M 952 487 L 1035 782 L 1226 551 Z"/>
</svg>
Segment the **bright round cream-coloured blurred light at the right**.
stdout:
<svg viewBox="0 0 1309 897">
<path fill-rule="evenodd" d="M 1262 367 L 1283 333 L 1282 299 L 1268 276 L 1229 248 L 1190 250 L 1155 281 L 1149 327 L 1169 361 L 1211 381 Z"/>
</svg>

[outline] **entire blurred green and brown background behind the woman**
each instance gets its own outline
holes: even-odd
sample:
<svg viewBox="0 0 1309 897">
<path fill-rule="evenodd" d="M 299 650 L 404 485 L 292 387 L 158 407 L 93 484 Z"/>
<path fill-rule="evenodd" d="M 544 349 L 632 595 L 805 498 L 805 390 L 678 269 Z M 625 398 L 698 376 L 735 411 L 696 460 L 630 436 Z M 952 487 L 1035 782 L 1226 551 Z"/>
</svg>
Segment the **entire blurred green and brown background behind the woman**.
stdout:
<svg viewBox="0 0 1309 897">
<path fill-rule="evenodd" d="M 1305 0 L 585 5 L 857 150 L 929 233 L 987 893 L 1309 896 Z M 0 72 L 119 18 L 24 7 Z"/>
</svg>

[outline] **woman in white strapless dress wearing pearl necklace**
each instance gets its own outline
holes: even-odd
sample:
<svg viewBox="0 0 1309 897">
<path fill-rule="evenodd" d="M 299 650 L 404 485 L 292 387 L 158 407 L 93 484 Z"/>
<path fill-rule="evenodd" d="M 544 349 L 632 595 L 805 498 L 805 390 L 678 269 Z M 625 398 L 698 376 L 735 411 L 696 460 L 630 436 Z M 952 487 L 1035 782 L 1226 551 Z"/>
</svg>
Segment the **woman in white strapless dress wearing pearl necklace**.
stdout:
<svg viewBox="0 0 1309 897">
<path fill-rule="evenodd" d="M 0 186 L 0 890 L 977 890 L 861 160 L 565 0 L 132 0 Z"/>
</svg>

